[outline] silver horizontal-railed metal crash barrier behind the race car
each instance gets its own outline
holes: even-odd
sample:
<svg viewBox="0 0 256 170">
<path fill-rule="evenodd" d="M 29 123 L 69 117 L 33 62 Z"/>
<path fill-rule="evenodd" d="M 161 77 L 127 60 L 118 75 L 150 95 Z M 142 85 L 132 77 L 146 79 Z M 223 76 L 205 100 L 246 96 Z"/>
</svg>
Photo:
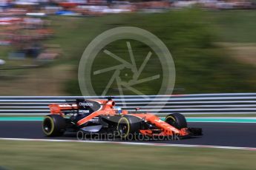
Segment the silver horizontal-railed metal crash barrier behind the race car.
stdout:
<svg viewBox="0 0 256 170">
<path fill-rule="evenodd" d="M 0 115 L 47 115 L 49 103 L 65 103 L 82 96 L 2 96 Z M 104 98 L 104 97 L 85 97 Z M 256 114 L 256 93 L 195 95 L 114 96 L 122 109 L 147 111 L 156 115 L 180 112 L 186 115 Z M 148 103 L 151 103 L 148 105 Z M 152 104 L 153 103 L 153 104 Z M 164 105 L 164 106 L 163 106 Z"/>
</svg>

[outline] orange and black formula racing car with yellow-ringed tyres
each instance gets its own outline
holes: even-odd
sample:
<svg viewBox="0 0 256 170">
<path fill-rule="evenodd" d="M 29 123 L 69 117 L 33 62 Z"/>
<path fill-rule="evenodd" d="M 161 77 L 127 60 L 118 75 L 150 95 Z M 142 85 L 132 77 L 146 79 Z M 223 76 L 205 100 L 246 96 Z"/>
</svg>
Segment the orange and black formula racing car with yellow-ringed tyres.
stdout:
<svg viewBox="0 0 256 170">
<path fill-rule="evenodd" d="M 126 138 L 139 134 L 148 137 L 189 137 L 202 135 L 200 128 L 188 128 L 186 118 L 173 113 L 161 120 L 156 115 L 128 112 L 115 107 L 112 98 L 106 100 L 76 99 L 67 103 L 50 104 L 42 130 L 47 136 L 62 136 L 65 132 L 113 133 Z"/>
</svg>

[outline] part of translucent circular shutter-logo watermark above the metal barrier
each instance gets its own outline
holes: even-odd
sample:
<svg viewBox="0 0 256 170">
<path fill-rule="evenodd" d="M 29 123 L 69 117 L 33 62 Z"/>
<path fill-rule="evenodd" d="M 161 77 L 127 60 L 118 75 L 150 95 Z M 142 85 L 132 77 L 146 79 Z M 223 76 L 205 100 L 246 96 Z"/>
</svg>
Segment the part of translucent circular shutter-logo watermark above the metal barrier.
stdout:
<svg viewBox="0 0 256 170">
<path fill-rule="evenodd" d="M 106 49 L 108 44 L 119 40 L 127 40 L 125 41 L 126 43 L 124 45 L 127 47 L 126 52 L 130 57 L 129 61 L 122 58 L 122 56 L 118 56 L 114 52 Z M 142 44 L 150 47 L 151 50 L 148 51 L 147 55 L 140 56 L 140 58 L 145 58 L 141 64 L 136 63 L 136 57 L 138 56 L 134 54 L 131 41 L 129 40 L 140 41 Z M 119 64 L 111 67 L 106 66 L 105 68 L 93 71 L 93 61 L 101 51 L 105 53 L 106 57 L 111 58 L 114 61 L 118 61 Z M 154 75 L 147 78 L 140 78 L 140 75 L 142 75 L 144 71 L 143 69 L 151 60 L 151 56 L 153 54 L 157 55 L 160 61 L 160 66 L 154 67 L 162 67 L 163 71 L 161 73 L 155 72 Z M 131 69 L 131 72 L 134 74 L 131 80 L 128 82 L 122 81 L 122 78 L 120 78 L 120 74 L 122 73 L 123 69 Z M 140 90 L 134 88 L 134 85 L 142 83 L 146 84 L 150 81 L 161 80 L 162 84 L 158 89 L 158 92 L 151 95 L 171 95 L 174 89 L 175 66 L 171 53 L 160 38 L 157 38 L 156 35 L 137 27 L 116 27 L 114 29 L 105 31 L 91 41 L 82 54 L 82 58 L 79 63 L 78 78 L 82 95 L 96 95 L 95 88 L 93 88 L 92 84 L 93 76 L 110 71 L 114 72 L 113 75 L 111 78 L 106 80 L 108 83 L 106 83 L 105 89 L 102 90 L 102 92 L 98 92 L 102 96 L 107 95 L 108 89 L 110 88 L 111 84 L 114 83 L 116 83 L 118 86 L 119 95 L 125 95 L 124 89 L 126 89 L 126 91 L 130 90 L 131 92 L 134 92 L 135 95 L 142 96 L 142 98 L 147 98 L 147 96 Z M 127 74 L 125 74 L 125 76 L 127 76 Z"/>
</svg>

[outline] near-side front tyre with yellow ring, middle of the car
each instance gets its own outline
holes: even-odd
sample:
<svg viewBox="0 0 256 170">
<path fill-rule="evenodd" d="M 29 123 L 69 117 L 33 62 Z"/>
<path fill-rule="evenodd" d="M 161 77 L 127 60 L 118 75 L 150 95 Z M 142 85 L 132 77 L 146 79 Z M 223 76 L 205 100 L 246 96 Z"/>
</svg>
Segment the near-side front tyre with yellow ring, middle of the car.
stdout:
<svg viewBox="0 0 256 170">
<path fill-rule="evenodd" d="M 139 135 L 141 119 L 134 116 L 123 116 L 117 123 L 117 132 L 119 137 L 126 140 L 134 139 Z"/>
</svg>

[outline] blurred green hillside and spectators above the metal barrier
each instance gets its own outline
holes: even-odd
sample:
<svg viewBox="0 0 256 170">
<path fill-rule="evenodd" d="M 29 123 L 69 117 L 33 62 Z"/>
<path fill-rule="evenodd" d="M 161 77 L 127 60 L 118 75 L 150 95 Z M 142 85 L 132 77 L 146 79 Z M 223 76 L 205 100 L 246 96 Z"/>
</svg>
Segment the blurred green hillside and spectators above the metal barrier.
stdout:
<svg viewBox="0 0 256 170">
<path fill-rule="evenodd" d="M 0 0 L 0 95 L 81 95 L 82 52 L 97 35 L 120 26 L 148 30 L 165 43 L 176 66 L 174 94 L 255 92 L 255 3 Z M 111 46 L 119 56 L 127 55 L 124 48 Z M 138 55 L 147 48 L 133 46 Z M 152 72 L 162 72 L 149 64 Z M 94 65 L 108 67 L 111 61 Z M 105 85 L 93 81 L 93 86 L 97 92 Z M 141 92 L 154 95 L 157 88 L 144 86 Z"/>
</svg>

